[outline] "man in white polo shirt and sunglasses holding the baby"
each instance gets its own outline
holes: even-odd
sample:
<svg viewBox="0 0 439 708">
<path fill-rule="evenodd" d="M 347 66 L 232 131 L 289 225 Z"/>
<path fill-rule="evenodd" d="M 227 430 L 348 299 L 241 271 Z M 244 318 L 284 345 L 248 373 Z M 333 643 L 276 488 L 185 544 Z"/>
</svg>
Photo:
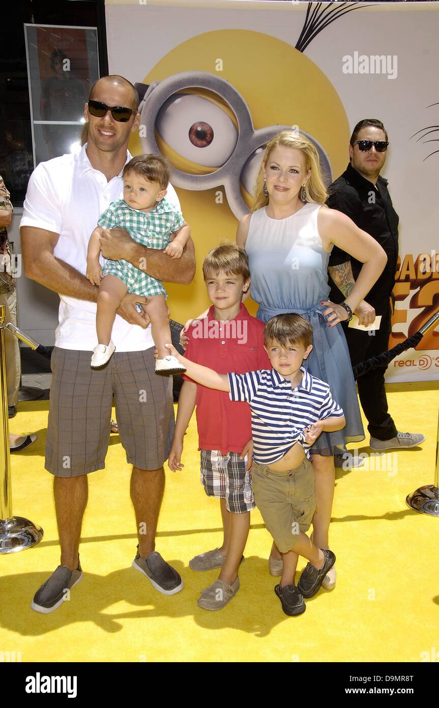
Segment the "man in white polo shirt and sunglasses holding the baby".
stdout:
<svg viewBox="0 0 439 708">
<path fill-rule="evenodd" d="M 122 197 L 122 169 L 129 161 L 129 136 L 137 130 L 139 96 L 122 76 L 106 76 L 90 91 L 84 110 L 88 142 L 76 155 L 37 166 L 30 178 L 21 220 L 25 275 L 59 293 L 59 326 L 52 355 L 52 388 L 46 469 L 54 474 L 61 564 L 33 598 L 38 612 L 53 612 L 82 576 L 81 523 L 87 474 L 105 467 L 112 396 L 127 462 L 133 464 L 131 500 L 139 547 L 133 566 L 166 595 L 183 587 L 180 575 L 155 551 L 155 535 L 165 486 L 163 463 L 174 429 L 172 377 L 154 373 L 154 347 L 139 295 L 124 298 L 112 330 L 116 352 L 107 367 L 93 370 L 98 287 L 86 279 L 88 239 L 110 202 Z M 168 185 L 167 198 L 178 205 Z M 194 246 L 182 258 L 148 249 L 113 229 L 101 241 L 103 256 L 124 258 L 153 278 L 189 284 Z"/>
</svg>

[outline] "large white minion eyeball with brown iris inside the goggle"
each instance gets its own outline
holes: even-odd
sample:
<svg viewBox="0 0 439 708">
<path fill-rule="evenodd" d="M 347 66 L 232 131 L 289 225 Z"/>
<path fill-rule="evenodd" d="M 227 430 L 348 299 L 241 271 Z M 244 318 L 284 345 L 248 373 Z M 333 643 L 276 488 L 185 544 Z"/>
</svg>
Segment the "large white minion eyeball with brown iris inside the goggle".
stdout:
<svg viewBox="0 0 439 708">
<path fill-rule="evenodd" d="M 176 93 L 163 103 L 156 119 L 160 143 L 170 149 L 160 152 L 167 154 L 172 163 L 185 159 L 212 168 L 203 172 L 223 166 L 238 142 L 238 129 L 230 117 L 230 108 L 219 96 L 212 94 L 211 98 L 209 93 L 206 91 L 207 98 Z M 185 171 L 191 171 L 190 165 Z"/>
</svg>

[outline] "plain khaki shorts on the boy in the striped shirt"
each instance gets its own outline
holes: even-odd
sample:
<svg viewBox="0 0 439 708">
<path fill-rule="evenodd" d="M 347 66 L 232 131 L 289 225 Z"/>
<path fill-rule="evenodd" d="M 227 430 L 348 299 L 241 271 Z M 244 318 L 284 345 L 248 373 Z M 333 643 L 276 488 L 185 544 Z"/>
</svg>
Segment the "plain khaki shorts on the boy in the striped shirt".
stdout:
<svg viewBox="0 0 439 708">
<path fill-rule="evenodd" d="M 300 531 L 308 531 L 315 512 L 314 471 L 309 459 L 295 469 L 274 472 L 253 463 L 254 501 L 281 553 L 291 551 Z"/>
</svg>

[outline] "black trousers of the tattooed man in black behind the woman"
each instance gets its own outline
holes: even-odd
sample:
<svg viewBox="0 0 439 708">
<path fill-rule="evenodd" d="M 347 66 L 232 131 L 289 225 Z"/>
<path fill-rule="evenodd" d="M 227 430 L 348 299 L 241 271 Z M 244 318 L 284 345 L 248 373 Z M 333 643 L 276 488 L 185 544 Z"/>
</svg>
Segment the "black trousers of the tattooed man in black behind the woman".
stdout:
<svg viewBox="0 0 439 708">
<path fill-rule="evenodd" d="M 376 330 L 373 336 L 369 332 L 353 329 L 346 326 L 344 322 L 341 323 L 346 334 L 353 367 L 387 351 L 392 331 L 390 316 L 389 307 L 388 312 L 382 315 L 380 329 Z M 377 367 L 357 379 L 358 396 L 365 417 L 368 419 L 368 431 L 378 440 L 390 440 L 397 435 L 397 428 L 387 404 L 384 379 L 386 370 L 387 366 Z"/>
</svg>

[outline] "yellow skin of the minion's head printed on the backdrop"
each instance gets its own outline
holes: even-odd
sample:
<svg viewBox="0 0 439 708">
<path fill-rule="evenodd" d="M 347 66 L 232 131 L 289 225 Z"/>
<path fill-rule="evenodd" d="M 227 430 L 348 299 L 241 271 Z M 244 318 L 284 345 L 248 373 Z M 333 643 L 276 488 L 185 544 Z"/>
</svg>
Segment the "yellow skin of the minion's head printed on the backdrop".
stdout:
<svg viewBox="0 0 439 708">
<path fill-rule="evenodd" d="M 185 71 L 207 72 L 230 82 L 247 103 L 255 130 L 298 125 L 327 152 L 333 178 L 346 169 L 350 130 L 339 95 L 322 70 L 287 42 L 251 30 L 197 35 L 160 59 L 144 83 Z M 142 152 L 139 135 L 131 137 L 129 149 L 131 154 Z M 235 241 L 238 222 L 225 194 L 221 201 L 221 188 L 177 191 L 197 253 L 195 282 L 186 287 L 166 286 L 171 316 L 183 322 L 209 305 L 201 264 L 220 241 Z M 251 300 L 246 304 L 254 314 L 256 305 Z"/>
</svg>

